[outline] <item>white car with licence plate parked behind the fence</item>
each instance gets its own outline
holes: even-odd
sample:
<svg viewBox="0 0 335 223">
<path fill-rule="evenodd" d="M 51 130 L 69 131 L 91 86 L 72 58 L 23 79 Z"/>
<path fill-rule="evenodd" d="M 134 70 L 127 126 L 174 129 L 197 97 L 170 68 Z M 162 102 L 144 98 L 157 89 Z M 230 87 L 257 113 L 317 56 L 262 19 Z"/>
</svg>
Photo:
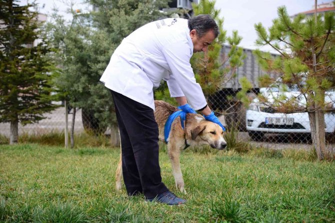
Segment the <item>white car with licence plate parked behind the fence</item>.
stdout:
<svg viewBox="0 0 335 223">
<path fill-rule="evenodd" d="M 293 88 L 287 91 L 279 90 L 279 87 L 261 88 L 260 93 L 267 99 L 268 104 L 261 104 L 257 98 L 246 110 L 245 124 L 246 130 L 252 140 L 262 140 L 265 133 L 287 134 L 287 133 L 310 133 L 309 118 L 307 112 L 302 113 L 280 113 L 270 107 L 274 99 L 285 98 L 296 99 L 296 103 L 303 105 L 305 99 L 303 95 Z M 325 94 L 325 102 L 335 108 L 335 91 L 328 91 Z M 335 133 L 335 114 L 325 113 L 324 115 L 325 132 Z"/>
</svg>

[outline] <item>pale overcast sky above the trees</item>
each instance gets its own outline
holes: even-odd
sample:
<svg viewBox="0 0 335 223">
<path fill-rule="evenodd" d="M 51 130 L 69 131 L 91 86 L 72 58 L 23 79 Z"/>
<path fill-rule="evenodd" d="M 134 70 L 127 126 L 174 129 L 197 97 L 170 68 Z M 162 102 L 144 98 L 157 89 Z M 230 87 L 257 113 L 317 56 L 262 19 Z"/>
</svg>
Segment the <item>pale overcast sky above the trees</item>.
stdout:
<svg viewBox="0 0 335 223">
<path fill-rule="evenodd" d="M 26 3 L 27 0 L 21 0 Z M 29 0 L 30 1 L 30 0 Z M 318 0 L 318 4 L 330 2 L 331 0 Z M 66 3 L 70 0 L 36 0 L 39 4 L 39 11 L 50 14 L 52 8 L 56 6 L 60 13 L 66 11 Z M 74 9 L 87 10 L 87 5 L 81 4 L 83 0 L 72 0 Z M 42 8 L 42 6 L 44 7 Z M 272 19 L 277 16 L 278 6 L 285 5 L 289 15 L 298 12 L 311 10 L 314 7 L 314 0 L 216 0 L 215 7 L 220 9 L 221 16 L 224 17 L 223 28 L 227 30 L 227 35 L 231 35 L 232 30 L 237 30 L 242 37 L 240 47 L 255 49 L 259 48 L 254 44 L 257 35 L 253 25 L 261 22 L 268 28 L 272 24 Z M 68 19 L 71 16 L 67 15 Z M 261 50 L 270 50 L 270 47 L 262 47 Z"/>
</svg>

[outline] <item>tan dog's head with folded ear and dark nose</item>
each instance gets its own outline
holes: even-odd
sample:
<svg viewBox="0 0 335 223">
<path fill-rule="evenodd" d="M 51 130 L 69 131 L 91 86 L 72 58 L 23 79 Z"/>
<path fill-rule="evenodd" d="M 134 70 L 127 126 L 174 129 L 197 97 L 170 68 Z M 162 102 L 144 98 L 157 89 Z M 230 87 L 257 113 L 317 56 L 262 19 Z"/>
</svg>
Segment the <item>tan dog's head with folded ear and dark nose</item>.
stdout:
<svg viewBox="0 0 335 223">
<path fill-rule="evenodd" d="M 210 145 L 214 149 L 225 149 L 227 143 L 223 139 L 222 128 L 210 121 L 201 120 L 197 125 L 191 129 L 192 140 L 199 144 Z"/>
</svg>

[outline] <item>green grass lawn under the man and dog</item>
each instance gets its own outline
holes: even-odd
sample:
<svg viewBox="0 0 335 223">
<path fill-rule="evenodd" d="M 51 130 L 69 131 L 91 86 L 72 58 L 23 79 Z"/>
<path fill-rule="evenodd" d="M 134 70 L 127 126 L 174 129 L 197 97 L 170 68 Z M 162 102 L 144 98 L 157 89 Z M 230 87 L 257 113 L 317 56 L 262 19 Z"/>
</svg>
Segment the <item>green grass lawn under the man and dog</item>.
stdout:
<svg viewBox="0 0 335 223">
<path fill-rule="evenodd" d="M 186 150 L 182 195 L 161 151 L 169 207 L 115 191 L 118 149 L 0 145 L 0 222 L 335 222 L 334 163 L 282 154 Z"/>
</svg>

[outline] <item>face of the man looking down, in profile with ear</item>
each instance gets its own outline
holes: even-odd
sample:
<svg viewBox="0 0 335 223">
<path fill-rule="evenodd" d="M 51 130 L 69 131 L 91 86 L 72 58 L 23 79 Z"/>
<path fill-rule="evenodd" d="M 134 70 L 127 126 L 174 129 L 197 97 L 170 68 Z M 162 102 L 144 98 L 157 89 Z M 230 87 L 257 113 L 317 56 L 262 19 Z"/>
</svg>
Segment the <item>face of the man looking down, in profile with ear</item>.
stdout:
<svg viewBox="0 0 335 223">
<path fill-rule="evenodd" d="M 203 36 L 199 38 L 196 30 L 192 29 L 189 32 L 189 36 L 191 37 L 193 42 L 193 53 L 207 51 L 208 45 L 210 45 L 215 39 L 215 35 L 212 30 L 207 31 Z"/>
</svg>

